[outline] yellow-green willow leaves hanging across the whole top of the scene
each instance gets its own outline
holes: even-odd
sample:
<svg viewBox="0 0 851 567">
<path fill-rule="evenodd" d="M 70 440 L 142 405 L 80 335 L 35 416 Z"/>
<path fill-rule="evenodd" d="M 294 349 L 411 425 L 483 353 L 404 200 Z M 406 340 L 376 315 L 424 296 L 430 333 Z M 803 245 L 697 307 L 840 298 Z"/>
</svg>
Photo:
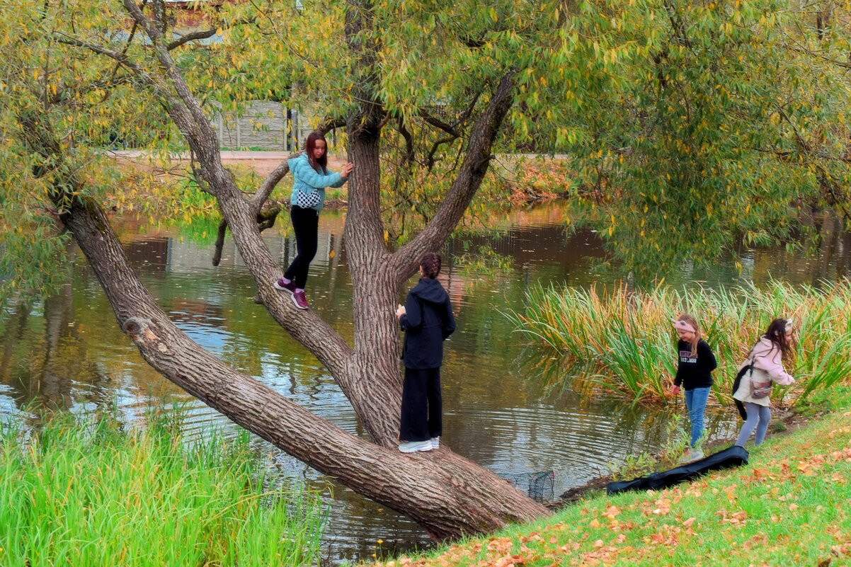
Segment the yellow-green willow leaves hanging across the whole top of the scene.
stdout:
<svg viewBox="0 0 851 567">
<path fill-rule="evenodd" d="M 103 146 L 174 146 L 165 110 L 177 92 L 117 0 L 5 8 L 0 169 L 15 179 L 3 180 L 0 208 L 4 229 L 28 221 L 17 211 L 39 211 L 31 230 L 54 221 L 56 175 L 73 173 L 80 196 L 124 191 Z M 167 42 L 209 31 L 170 51 L 208 117 L 276 100 L 319 123 L 374 103 L 388 245 L 434 217 L 504 77 L 514 105 L 497 149 L 563 153 L 563 187 L 594 212 L 580 217 L 639 280 L 710 263 L 742 233 L 745 243 L 786 238 L 801 229 L 802 207 L 848 215 L 848 3 L 260 0 L 163 10 L 174 22 Z M 59 142 L 53 158 L 43 135 Z M 535 175 L 516 180 L 547 189 Z"/>
</svg>

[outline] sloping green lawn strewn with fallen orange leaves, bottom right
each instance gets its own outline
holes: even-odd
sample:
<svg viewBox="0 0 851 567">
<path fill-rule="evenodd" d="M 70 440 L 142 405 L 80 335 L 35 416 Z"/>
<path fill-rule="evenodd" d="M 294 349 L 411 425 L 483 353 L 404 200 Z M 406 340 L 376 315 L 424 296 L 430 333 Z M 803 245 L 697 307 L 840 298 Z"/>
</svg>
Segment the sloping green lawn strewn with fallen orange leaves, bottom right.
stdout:
<svg viewBox="0 0 851 567">
<path fill-rule="evenodd" d="M 851 564 L 851 391 L 751 448 L 745 467 L 658 492 L 597 495 L 552 518 L 386 567 Z"/>
</svg>

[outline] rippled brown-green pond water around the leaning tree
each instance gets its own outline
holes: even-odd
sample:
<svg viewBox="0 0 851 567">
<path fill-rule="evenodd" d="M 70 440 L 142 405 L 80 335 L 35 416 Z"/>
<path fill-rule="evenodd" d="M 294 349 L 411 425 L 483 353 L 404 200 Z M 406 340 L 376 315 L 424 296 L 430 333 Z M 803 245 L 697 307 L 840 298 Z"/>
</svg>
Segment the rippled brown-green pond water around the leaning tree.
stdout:
<svg viewBox="0 0 851 567">
<path fill-rule="evenodd" d="M 554 495 L 608 472 L 609 463 L 622 462 L 626 455 L 658 450 L 665 443 L 671 414 L 684 413 L 682 404 L 632 408 L 620 399 L 552 392 L 536 375 L 535 363 L 551 355 L 524 346 L 523 335 L 512 332 L 502 312 L 521 309 L 530 286 L 614 281 L 614 276 L 594 269 L 604 255 L 596 234 L 565 231 L 564 215 L 559 203 L 507 213 L 487 233 L 450 241 L 442 274 L 459 324 L 447 343 L 443 366 L 442 442 L 518 484 L 530 473 L 551 471 Z M 342 212 L 326 211 L 320 217 L 308 299 L 312 309 L 351 341 L 344 222 Z M 264 232 L 264 238 L 286 266 L 295 245 L 288 223 L 281 224 Z M 254 285 L 232 241 L 226 243 L 221 265 L 214 267 L 212 225 L 154 229 L 133 219 L 117 219 L 115 225 L 144 283 L 191 338 L 317 415 L 364 435 L 346 398 L 317 360 L 290 339 L 263 306 L 254 304 Z M 740 250 L 741 273 L 733 261 L 722 261 L 705 271 L 683 266 L 667 281 L 714 287 L 747 280 L 760 284 L 768 278 L 792 283 L 841 278 L 851 270 L 851 241 L 838 230 L 829 236 L 819 257 L 802 258 L 783 249 Z M 504 270 L 471 275 L 465 262 L 475 259 L 471 251 L 482 246 L 504 258 Z M 19 412 L 34 401 L 77 412 L 115 404 L 123 419 L 134 422 L 143 419 L 150 404 L 182 404 L 190 434 L 235 434 L 236 426 L 225 417 L 147 366 L 117 329 L 82 255 L 74 251 L 74 256 L 59 294 L 3 320 L 0 415 Z M 710 438 L 729 436 L 738 427 L 734 415 L 722 410 L 711 409 L 707 418 Z M 368 560 L 373 553 L 382 556 L 430 544 L 407 518 L 334 484 L 260 438 L 252 443 L 257 458 L 326 495 L 323 561 Z"/>
</svg>

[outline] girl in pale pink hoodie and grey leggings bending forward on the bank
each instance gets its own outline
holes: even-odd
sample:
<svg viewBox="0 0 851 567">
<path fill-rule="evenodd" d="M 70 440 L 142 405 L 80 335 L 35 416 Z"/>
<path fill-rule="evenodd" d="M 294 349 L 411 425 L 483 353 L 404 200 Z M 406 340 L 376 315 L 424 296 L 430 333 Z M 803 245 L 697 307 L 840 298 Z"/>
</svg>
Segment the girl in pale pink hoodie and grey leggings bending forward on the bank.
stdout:
<svg viewBox="0 0 851 567">
<path fill-rule="evenodd" d="M 739 367 L 741 370 L 748 364 L 753 364 L 753 368 L 745 372 L 739 388 L 733 393 L 734 398 L 745 404 L 747 411 L 745 425 L 736 440 L 740 447 L 745 446 L 745 441 L 751 437 L 754 427 L 757 428 L 754 444 L 761 444 L 765 439 L 765 432 L 768 431 L 768 421 L 771 421 L 770 388 L 768 393 L 760 395 L 761 392 L 755 392 L 752 385 L 771 385 L 774 382 L 780 386 L 788 386 L 795 382 L 783 369 L 783 361 L 790 360 L 794 344 L 791 319 L 774 319 L 768 325 L 765 335 L 762 335 L 751 349 L 747 360 Z"/>
</svg>

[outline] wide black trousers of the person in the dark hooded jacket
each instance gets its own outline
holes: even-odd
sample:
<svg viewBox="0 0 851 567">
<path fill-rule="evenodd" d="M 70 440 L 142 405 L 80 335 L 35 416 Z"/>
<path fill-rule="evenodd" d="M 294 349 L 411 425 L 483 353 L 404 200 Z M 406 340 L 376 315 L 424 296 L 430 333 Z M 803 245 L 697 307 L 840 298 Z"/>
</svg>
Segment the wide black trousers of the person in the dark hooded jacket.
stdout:
<svg viewBox="0 0 851 567">
<path fill-rule="evenodd" d="M 443 432 L 442 414 L 440 369 L 406 368 L 399 438 L 403 441 L 427 441 L 440 437 Z"/>
</svg>

